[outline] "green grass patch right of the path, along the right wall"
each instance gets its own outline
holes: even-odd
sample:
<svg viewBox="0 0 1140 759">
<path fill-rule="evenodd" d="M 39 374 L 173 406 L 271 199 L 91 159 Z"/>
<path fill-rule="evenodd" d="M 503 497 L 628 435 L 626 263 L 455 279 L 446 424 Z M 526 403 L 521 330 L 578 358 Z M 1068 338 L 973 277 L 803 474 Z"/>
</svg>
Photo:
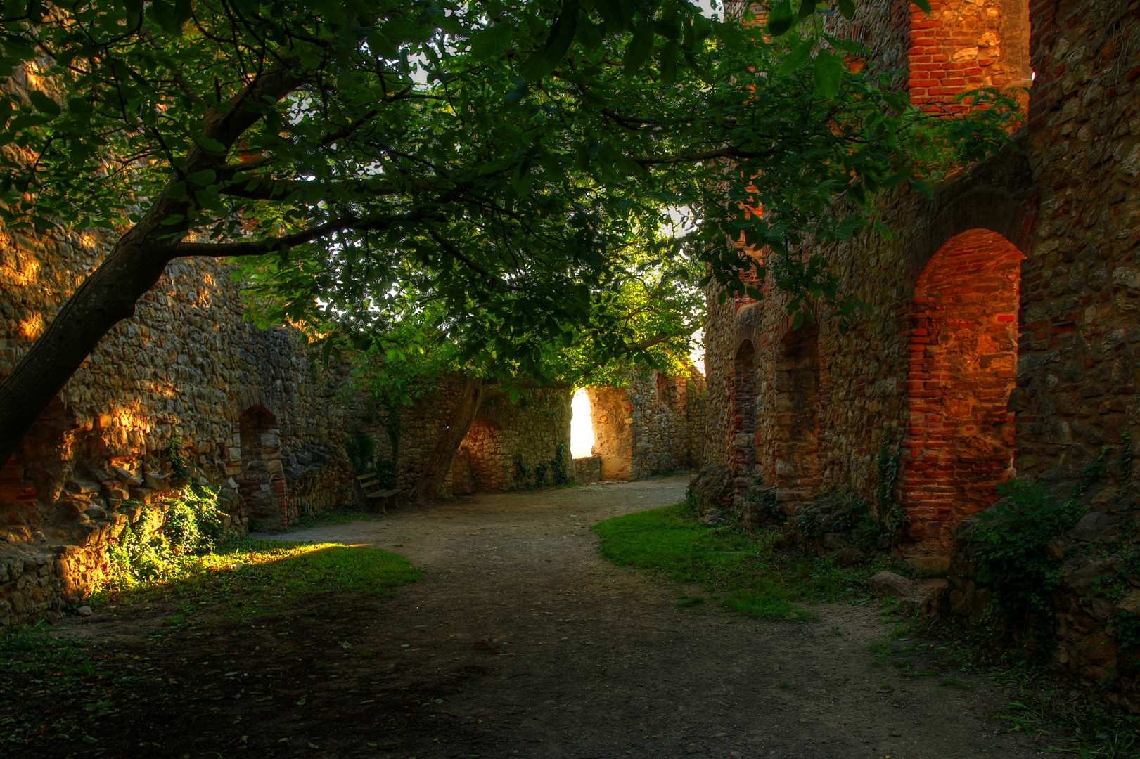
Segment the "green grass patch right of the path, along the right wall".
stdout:
<svg viewBox="0 0 1140 759">
<path fill-rule="evenodd" d="M 887 569 L 881 562 L 840 568 L 830 558 L 782 552 L 776 530 L 749 534 L 706 527 L 681 505 L 618 516 L 592 529 L 602 556 L 614 564 L 700 585 L 722 595 L 725 609 L 756 619 L 808 621 L 814 612 L 799 604 L 865 603 L 866 578 Z"/>
</svg>

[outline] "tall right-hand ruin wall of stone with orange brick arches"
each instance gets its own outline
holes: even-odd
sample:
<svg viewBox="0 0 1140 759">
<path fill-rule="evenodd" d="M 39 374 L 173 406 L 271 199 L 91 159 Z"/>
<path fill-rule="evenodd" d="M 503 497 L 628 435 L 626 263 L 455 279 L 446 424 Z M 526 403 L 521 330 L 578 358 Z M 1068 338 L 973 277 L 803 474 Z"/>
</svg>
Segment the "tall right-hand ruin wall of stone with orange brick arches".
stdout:
<svg viewBox="0 0 1140 759">
<path fill-rule="evenodd" d="M 896 553 L 945 569 L 955 525 L 994 501 L 997 481 L 1074 478 L 1126 429 L 1140 441 L 1140 35 L 1127 3 L 913 10 L 866 3 L 834 30 L 909 65 L 917 101 L 1024 83 L 1032 64 L 1020 149 L 933 198 L 905 186 L 881 197 L 897 239 L 821 251 L 873 308 L 846 334 L 826 312 L 792 330 L 779 293 L 719 304 L 710 289 L 705 444 L 738 504 L 759 480 L 789 511 L 837 490 L 876 503 L 877 456 L 898 456 L 893 500 L 909 525 Z M 1031 11 L 1032 62 L 1016 22 Z M 937 92 L 919 85 L 934 71 L 919 63 L 970 62 Z"/>
</svg>

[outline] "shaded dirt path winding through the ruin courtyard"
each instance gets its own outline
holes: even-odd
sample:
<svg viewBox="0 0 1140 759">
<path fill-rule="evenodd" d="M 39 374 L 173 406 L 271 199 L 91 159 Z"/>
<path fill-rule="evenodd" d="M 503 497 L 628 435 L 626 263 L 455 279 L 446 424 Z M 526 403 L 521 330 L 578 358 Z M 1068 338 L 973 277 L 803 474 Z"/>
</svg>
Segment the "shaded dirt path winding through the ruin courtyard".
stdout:
<svg viewBox="0 0 1140 759">
<path fill-rule="evenodd" d="M 1043 756 L 987 721 L 1004 699 L 986 682 L 877 667 L 869 645 L 889 627 L 872 607 L 822 606 L 806 625 L 691 613 L 671 583 L 600 558 L 591 524 L 674 504 L 684 487 L 479 496 L 282 538 L 385 548 L 425 570 L 351 640 L 404 662 L 391 687 L 456 684 L 427 704 L 447 721 L 418 759 Z M 488 637 L 499 654 L 473 647 Z"/>
</svg>

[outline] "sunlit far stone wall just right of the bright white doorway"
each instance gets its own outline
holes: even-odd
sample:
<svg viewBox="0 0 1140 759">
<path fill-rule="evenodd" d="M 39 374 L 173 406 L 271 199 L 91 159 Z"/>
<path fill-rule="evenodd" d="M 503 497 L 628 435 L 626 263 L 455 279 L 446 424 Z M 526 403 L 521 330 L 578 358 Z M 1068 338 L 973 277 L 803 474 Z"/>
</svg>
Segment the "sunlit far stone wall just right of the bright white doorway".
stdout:
<svg viewBox="0 0 1140 759">
<path fill-rule="evenodd" d="M 681 377 L 634 372 L 625 386 L 586 393 L 602 479 L 637 480 L 701 460 L 706 387 L 695 367 Z"/>
</svg>

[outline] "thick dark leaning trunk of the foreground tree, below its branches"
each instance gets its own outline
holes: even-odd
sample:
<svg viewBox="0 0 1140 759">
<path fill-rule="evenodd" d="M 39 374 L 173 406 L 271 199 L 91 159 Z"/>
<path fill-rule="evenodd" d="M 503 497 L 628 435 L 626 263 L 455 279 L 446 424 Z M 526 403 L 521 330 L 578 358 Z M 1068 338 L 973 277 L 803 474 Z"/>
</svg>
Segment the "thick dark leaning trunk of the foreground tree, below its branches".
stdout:
<svg viewBox="0 0 1140 759">
<path fill-rule="evenodd" d="M 158 281 L 171 248 L 147 231 L 140 223 L 119 240 L 0 384 L 0 467 L 99 340 Z"/>
</svg>

